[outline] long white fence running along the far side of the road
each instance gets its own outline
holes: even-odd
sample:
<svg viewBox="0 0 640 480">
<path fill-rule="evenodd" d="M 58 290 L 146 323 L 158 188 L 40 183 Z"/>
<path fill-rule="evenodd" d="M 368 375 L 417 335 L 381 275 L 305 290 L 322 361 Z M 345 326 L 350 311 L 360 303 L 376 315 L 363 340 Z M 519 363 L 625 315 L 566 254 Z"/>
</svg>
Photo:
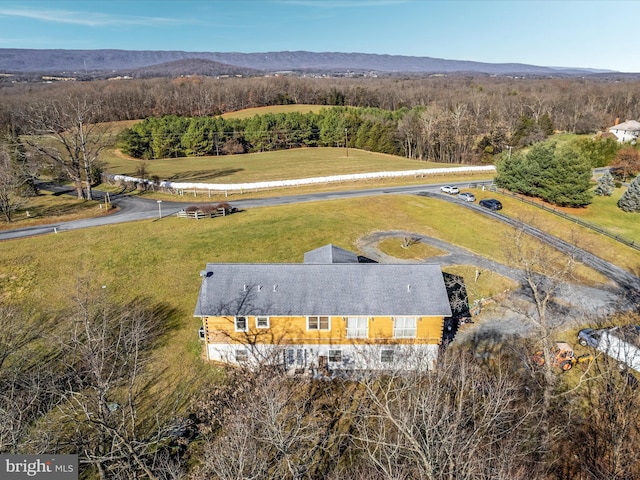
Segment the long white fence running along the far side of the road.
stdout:
<svg viewBox="0 0 640 480">
<path fill-rule="evenodd" d="M 349 175 L 332 175 L 329 177 L 313 177 L 313 178 L 299 178 L 295 180 L 274 180 L 271 182 L 254 182 L 254 183 L 181 183 L 181 182 L 160 182 L 160 187 L 170 188 L 175 190 L 205 190 L 210 192 L 234 192 L 234 191 L 247 191 L 247 190 L 264 190 L 271 188 L 293 187 L 300 185 L 311 185 L 317 183 L 330 183 L 330 182 L 348 182 L 353 180 L 367 180 L 375 178 L 394 178 L 394 177 L 423 177 L 429 175 L 443 175 L 443 174 L 464 174 L 464 173 L 482 173 L 482 172 L 495 172 L 496 167 L 493 165 L 479 166 L 479 167 L 453 167 L 453 168 L 426 168 L 422 170 L 400 170 L 395 172 L 372 172 L 372 173 L 352 173 Z M 151 183 L 149 180 L 141 180 L 135 177 L 128 177 L 126 175 L 114 175 L 115 181 L 122 182 L 144 182 Z"/>
</svg>

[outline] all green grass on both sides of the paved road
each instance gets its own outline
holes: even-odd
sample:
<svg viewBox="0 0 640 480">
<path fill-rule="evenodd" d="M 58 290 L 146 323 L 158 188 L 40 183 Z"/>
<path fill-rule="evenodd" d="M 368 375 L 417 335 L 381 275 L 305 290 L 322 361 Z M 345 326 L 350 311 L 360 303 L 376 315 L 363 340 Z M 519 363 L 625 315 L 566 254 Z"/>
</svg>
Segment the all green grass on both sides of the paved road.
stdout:
<svg viewBox="0 0 640 480">
<path fill-rule="evenodd" d="M 140 162 L 123 159 L 114 152 L 106 154 L 108 170 L 112 172 L 133 173 Z M 353 149 L 349 149 L 348 158 L 343 149 L 303 149 L 148 162 L 151 175 L 216 183 L 441 166 Z M 448 182 L 464 178 L 439 176 L 396 179 L 388 183 L 330 184 L 259 195 L 354 186 L 367 188 L 404 182 Z M 504 204 L 504 215 L 521 218 L 553 235 L 576 241 L 578 246 L 629 271 L 640 272 L 640 252 L 636 250 L 516 199 L 479 189 L 474 193 L 478 199 L 499 198 Z M 622 189 L 617 189 L 613 197 L 596 197 L 588 208 L 564 211 L 640 241 L 640 216 L 626 214 L 615 205 L 621 193 Z M 176 200 L 176 197 L 169 198 Z M 199 203 L 209 199 L 184 200 Z M 49 219 L 51 222 L 63 221 L 103 213 L 94 202 L 46 194 L 34 199 L 29 209 L 29 218 L 24 211 L 18 212 L 19 221 L 10 226 L 23 227 L 50 223 Z M 197 388 L 191 383 L 196 373 L 201 380 L 215 374 L 214 369 L 201 361 L 202 349 L 197 336 L 200 323 L 192 316 L 201 283 L 199 272 L 206 263 L 299 263 L 304 252 L 327 243 L 361 253 L 357 249 L 358 239 L 372 232 L 389 230 L 433 236 L 503 263 L 509 262 L 513 237 L 509 227 L 461 204 L 412 195 L 255 208 L 199 221 L 167 217 L 159 221 L 116 224 L 2 242 L 0 302 L 25 303 L 51 318 L 62 318 L 63 322 L 61 312 L 69 308 L 78 281 L 83 279 L 88 280 L 95 291 L 105 292 L 115 301 L 143 297 L 150 303 L 170 306 L 175 312 L 171 320 L 177 327 L 163 338 L 162 346 L 154 353 L 152 368 L 154 373 L 162 373 L 163 380 L 156 386 L 157 390 L 167 389 L 173 394 L 183 387 Z M 402 249 L 400 239 L 385 240 L 380 247 L 387 254 L 403 259 L 441 253 L 424 245 Z M 443 270 L 465 278 L 471 303 L 516 287 L 513 281 L 490 271 L 482 270 L 476 278 L 476 268 L 470 265 L 447 266 Z M 587 284 L 607 282 L 606 278 L 586 267 L 578 268 L 577 275 Z"/>
</svg>

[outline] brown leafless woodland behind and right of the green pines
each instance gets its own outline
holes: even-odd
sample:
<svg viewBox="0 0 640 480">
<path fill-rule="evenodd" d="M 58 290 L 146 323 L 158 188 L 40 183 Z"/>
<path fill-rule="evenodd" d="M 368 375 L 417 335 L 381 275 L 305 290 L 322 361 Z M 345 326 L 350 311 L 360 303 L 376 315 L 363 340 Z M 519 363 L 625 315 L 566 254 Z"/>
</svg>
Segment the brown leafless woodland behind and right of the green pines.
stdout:
<svg viewBox="0 0 640 480">
<path fill-rule="evenodd" d="M 447 159 L 455 136 L 457 161 L 539 141 L 552 130 L 595 133 L 616 119 L 640 117 L 640 83 L 598 79 L 506 77 L 233 78 L 189 77 L 74 84 L 0 83 L 0 125 L 27 132 L 25 106 L 53 98 L 99 101 L 100 121 L 177 115 L 206 117 L 278 104 L 315 104 L 413 111 L 398 126 L 402 154 Z M 414 110 L 416 109 L 416 110 Z M 399 119 L 397 119 L 399 120 Z M 420 127 L 424 145 L 415 138 Z M 444 136 L 443 138 L 441 138 Z M 473 137 L 472 137 L 473 136 Z M 467 145 L 473 138 L 472 145 Z"/>
</svg>

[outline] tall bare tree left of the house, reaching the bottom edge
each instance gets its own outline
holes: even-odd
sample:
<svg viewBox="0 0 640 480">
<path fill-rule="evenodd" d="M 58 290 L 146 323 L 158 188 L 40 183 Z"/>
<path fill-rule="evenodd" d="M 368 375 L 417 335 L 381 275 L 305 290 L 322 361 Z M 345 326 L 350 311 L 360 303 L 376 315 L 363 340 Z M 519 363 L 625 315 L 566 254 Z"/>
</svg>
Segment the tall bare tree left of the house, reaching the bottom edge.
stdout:
<svg viewBox="0 0 640 480">
<path fill-rule="evenodd" d="M 85 289 L 72 318 L 60 443 L 72 445 L 100 478 L 159 478 L 153 465 L 171 439 L 178 400 L 147 404 L 156 379 L 146 367 L 166 312 L 144 300 L 116 306 Z"/>
</svg>

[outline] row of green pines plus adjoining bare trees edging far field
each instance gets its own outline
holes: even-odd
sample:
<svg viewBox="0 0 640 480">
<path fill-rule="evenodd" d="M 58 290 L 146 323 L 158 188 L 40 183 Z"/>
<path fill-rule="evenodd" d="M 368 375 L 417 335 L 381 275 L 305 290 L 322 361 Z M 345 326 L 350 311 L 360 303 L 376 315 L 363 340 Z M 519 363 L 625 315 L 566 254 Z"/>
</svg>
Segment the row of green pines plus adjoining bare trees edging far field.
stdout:
<svg viewBox="0 0 640 480">
<path fill-rule="evenodd" d="M 511 137 L 504 129 L 481 136 L 463 110 L 332 107 L 248 119 L 147 117 L 122 132 L 118 147 L 145 159 L 344 146 L 442 163 L 491 163 L 509 143 L 528 145 L 554 132 L 545 115 L 539 122 L 522 118 Z"/>
</svg>

